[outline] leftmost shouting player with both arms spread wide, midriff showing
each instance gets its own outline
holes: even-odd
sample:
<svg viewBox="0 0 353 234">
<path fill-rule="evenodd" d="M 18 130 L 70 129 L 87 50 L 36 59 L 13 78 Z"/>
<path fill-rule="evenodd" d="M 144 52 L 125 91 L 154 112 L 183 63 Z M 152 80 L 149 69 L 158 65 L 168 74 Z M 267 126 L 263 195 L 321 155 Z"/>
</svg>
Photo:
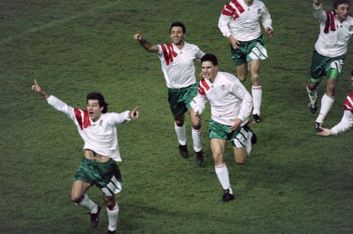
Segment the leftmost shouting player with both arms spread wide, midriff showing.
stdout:
<svg viewBox="0 0 353 234">
<path fill-rule="evenodd" d="M 107 205 L 108 234 L 115 234 L 119 207 L 114 194 L 122 190 L 120 170 L 115 163 L 121 161 L 115 125 L 138 118 L 137 107 L 120 114 L 107 113 L 108 104 L 103 95 L 95 92 L 87 95 L 87 109 L 80 110 L 46 93 L 36 79 L 32 90 L 42 94 L 51 106 L 67 115 L 76 124 L 84 141 L 84 157 L 74 176 L 71 200 L 90 211 L 91 227 L 95 228 L 99 222 L 101 206 L 92 202 L 86 191 L 93 185 L 100 188 Z"/>
</svg>

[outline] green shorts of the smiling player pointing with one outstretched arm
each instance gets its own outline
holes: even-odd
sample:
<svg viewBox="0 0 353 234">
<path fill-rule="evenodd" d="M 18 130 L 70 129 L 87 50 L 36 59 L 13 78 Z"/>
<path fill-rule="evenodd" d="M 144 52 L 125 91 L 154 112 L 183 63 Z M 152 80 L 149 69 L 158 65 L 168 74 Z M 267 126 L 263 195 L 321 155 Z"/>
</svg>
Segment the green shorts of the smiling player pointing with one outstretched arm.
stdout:
<svg viewBox="0 0 353 234">
<path fill-rule="evenodd" d="M 190 103 L 197 96 L 198 84 L 192 84 L 185 88 L 169 89 L 168 102 L 173 115 L 182 115 L 192 108 Z"/>
</svg>

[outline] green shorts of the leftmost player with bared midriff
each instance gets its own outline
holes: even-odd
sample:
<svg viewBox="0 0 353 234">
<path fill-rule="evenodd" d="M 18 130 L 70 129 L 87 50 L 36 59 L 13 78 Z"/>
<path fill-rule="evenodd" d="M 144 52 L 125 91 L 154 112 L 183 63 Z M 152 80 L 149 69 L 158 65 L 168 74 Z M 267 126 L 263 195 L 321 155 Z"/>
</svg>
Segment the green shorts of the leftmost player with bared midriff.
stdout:
<svg viewBox="0 0 353 234">
<path fill-rule="evenodd" d="M 123 186 L 119 167 L 113 159 L 103 163 L 83 157 L 81 165 L 75 173 L 74 181 L 95 184 L 107 196 L 119 193 Z"/>
</svg>

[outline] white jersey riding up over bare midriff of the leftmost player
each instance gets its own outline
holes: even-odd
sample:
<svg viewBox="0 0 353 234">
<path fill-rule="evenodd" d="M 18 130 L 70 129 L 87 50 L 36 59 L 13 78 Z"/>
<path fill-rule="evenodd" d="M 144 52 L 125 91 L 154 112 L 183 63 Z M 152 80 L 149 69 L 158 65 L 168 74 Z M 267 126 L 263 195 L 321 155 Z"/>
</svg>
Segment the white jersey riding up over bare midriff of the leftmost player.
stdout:
<svg viewBox="0 0 353 234">
<path fill-rule="evenodd" d="M 89 149 L 114 161 L 121 161 L 115 125 L 131 120 L 129 110 L 122 113 L 102 113 L 99 120 L 93 122 L 87 110 L 73 108 L 53 95 L 47 101 L 74 121 L 84 141 L 83 150 Z"/>
</svg>

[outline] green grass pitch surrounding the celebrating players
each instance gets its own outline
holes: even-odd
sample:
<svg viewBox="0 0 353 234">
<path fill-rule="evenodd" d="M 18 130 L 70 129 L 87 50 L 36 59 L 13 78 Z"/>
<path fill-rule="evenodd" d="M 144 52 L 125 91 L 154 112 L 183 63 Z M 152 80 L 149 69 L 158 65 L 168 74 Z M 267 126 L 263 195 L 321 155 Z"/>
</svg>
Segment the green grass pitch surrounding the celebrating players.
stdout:
<svg viewBox="0 0 353 234">
<path fill-rule="evenodd" d="M 85 108 L 85 95 L 102 92 L 109 111 L 138 105 L 140 118 L 118 126 L 124 190 L 116 196 L 123 234 L 353 233 L 352 130 L 315 134 L 305 82 L 319 33 L 311 1 L 264 0 L 275 37 L 265 36 L 261 64 L 263 123 L 245 165 L 231 145 L 225 161 L 236 200 L 221 204 L 208 140 L 209 106 L 202 116 L 202 167 L 179 156 L 167 88 L 155 54 L 133 40 L 137 30 L 153 44 L 169 42 L 171 22 L 186 40 L 217 55 L 221 71 L 235 73 L 228 41 L 217 28 L 225 1 L 2 0 L 0 3 L 0 234 L 101 234 L 86 210 L 70 201 L 81 158 L 75 125 L 30 91 L 33 79 L 67 104 Z M 331 9 L 331 1 L 323 1 Z M 337 124 L 352 90 L 352 42 L 326 126 Z M 196 63 L 196 74 L 199 64 Z M 325 92 L 325 82 L 319 88 Z M 250 90 L 250 79 L 244 82 Z M 319 102 L 320 103 L 320 102 Z M 190 122 L 187 117 L 189 151 Z M 99 203 L 102 193 L 88 191 Z"/>
</svg>

